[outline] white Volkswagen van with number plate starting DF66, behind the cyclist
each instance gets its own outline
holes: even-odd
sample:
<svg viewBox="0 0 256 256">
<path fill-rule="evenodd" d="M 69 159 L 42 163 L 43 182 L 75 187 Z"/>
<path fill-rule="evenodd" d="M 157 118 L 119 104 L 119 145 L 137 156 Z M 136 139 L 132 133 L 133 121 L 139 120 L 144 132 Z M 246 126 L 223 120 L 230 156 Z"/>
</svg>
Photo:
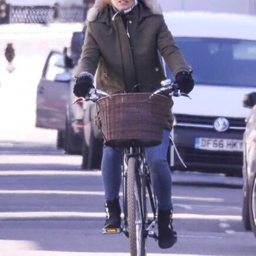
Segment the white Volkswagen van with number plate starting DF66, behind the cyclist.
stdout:
<svg viewBox="0 0 256 256">
<path fill-rule="evenodd" d="M 188 169 L 241 175 L 248 116 L 242 98 L 256 88 L 256 17 L 207 12 L 164 16 L 195 80 L 192 100 L 174 99 L 179 152 Z M 168 70 L 167 75 L 174 79 Z"/>
</svg>

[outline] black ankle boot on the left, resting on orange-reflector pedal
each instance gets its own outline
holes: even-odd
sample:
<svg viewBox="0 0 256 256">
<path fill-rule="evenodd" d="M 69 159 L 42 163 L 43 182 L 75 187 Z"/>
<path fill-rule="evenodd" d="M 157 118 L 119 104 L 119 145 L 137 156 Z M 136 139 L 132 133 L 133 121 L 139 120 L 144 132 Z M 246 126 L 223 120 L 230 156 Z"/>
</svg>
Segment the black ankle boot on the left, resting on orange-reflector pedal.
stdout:
<svg viewBox="0 0 256 256">
<path fill-rule="evenodd" d="M 105 203 L 107 217 L 103 228 L 120 228 L 121 227 L 121 208 L 119 200 L 107 201 Z"/>
</svg>

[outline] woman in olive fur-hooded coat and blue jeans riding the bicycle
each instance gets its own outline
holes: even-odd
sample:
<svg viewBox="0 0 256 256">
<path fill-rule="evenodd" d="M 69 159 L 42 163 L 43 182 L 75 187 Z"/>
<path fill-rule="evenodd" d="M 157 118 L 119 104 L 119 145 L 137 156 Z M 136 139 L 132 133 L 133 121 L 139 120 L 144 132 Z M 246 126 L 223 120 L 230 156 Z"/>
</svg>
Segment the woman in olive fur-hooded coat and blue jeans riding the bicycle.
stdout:
<svg viewBox="0 0 256 256">
<path fill-rule="evenodd" d="M 87 34 L 76 75 L 74 94 L 85 97 L 94 87 L 108 94 L 152 92 L 166 79 L 159 54 L 174 74 L 181 92 L 194 88 L 191 70 L 175 45 L 157 0 L 96 0 L 87 15 Z M 135 90 L 136 91 L 136 90 Z M 170 107 L 172 107 L 172 100 Z M 172 114 L 166 120 L 162 144 L 145 148 L 158 200 L 158 244 L 169 248 L 177 241 L 172 227 L 171 173 L 167 162 Z M 104 145 L 102 178 L 107 219 L 104 228 L 121 227 L 119 188 L 121 149 Z"/>
</svg>

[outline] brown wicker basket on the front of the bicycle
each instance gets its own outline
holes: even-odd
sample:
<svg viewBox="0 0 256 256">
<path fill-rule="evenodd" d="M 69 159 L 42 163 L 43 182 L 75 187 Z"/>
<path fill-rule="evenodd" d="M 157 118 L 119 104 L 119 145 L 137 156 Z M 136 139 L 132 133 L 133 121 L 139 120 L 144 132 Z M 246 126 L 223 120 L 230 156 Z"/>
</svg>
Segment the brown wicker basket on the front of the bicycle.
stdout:
<svg viewBox="0 0 256 256">
<path fill-rule="evenodd" d="M 161 144 L 170 101 L 149 93 L 115 94 L 97 102 L 105 144 L 111 147 Z"/>
</svg>

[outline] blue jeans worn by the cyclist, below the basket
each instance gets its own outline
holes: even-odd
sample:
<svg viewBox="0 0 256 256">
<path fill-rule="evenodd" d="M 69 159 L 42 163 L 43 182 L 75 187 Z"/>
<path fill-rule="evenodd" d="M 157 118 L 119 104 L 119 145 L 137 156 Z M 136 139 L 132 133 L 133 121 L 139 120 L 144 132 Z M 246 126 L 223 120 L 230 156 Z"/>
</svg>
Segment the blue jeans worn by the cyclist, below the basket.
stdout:
<svg viewBox="0 0 256 256">
<path fill-rule="evenodd" d="M 162 132 L 162 144 L 156 147 L 145 148 L 145 157 L 151 173 L 152 185 L 158 200 L 158 208 L 169 210 L 171 202 L 171 172 L 167 162 L 169 146 L 169 131 Z M 118 198 L 121 186 L 122 149 L 104 145 L 101 163 L 102 178 L 105 190 L 105 199 Z"/>
</svg>

